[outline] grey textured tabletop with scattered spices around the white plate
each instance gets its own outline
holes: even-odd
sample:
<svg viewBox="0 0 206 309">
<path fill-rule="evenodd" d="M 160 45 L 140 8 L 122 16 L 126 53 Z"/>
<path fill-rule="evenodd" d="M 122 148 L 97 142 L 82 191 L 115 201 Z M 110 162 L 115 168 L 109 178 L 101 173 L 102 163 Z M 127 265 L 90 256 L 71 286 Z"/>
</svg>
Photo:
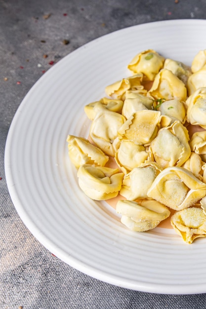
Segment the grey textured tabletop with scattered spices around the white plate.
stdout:
<svg viewBox="0 0 206 309">
<path fill-rule="evenodd" d="M 90 278 L 54 257 L 16 213 L 3 163 L 15 111 L 53 62 L 125 27 L 185 18 L 205 19 L 206 1 L 0 0 L 0 309 L 206 308 L 206 294 L 130 291 Z"/>
</svg>

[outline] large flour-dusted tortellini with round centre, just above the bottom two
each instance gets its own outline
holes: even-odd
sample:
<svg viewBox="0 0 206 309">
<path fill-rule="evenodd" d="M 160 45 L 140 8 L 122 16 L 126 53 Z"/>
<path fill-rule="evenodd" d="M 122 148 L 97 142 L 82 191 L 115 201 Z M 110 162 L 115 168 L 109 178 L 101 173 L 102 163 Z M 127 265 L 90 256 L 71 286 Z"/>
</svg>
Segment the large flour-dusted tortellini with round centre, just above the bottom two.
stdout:
<svg viewBox="0 0 206 309">
<path fill-rule="evenodd" d="M 183 167 L 167 167 L 156 177 L 147 195 L 171 209 L 182 210 L 206 195 L 206 184 Z"/>
</svg>

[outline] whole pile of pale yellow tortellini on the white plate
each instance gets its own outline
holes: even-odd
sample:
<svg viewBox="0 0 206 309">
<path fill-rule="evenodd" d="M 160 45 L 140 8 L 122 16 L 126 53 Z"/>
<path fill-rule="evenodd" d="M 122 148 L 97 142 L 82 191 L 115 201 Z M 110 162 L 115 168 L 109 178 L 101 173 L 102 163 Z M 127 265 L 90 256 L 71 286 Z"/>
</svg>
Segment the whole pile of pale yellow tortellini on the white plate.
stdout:
<svg viewBox="0 0 206 309">
<path fill-rule="evenodd" d="M 145 50 L 128 70 L 84 107 L 88 138 L 68 135 L 80 188 L 95 200 L 119 195 L 121 222 L 137 232 L 172 210 L 171 226 L 192 243 L 206 236 L 206 50 L 191 67 Z"/>
</svg>

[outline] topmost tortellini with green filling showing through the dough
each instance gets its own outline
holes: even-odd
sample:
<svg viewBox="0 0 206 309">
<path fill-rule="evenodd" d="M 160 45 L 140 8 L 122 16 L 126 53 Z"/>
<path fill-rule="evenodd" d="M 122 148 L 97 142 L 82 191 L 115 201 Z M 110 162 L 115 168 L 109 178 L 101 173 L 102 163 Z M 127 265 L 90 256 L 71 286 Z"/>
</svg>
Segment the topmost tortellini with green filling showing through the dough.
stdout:
<svg viewBox="0 0 206 309">
<path fill-rule="evenodd" d="M 154 80 L 163 68 L 164 61 L 163 56 L 153 49 L 148 49 L 137 54 L 128 64 L 128 69 L 134 74 L 142 73 L 146 80 Z"/>
</svg>

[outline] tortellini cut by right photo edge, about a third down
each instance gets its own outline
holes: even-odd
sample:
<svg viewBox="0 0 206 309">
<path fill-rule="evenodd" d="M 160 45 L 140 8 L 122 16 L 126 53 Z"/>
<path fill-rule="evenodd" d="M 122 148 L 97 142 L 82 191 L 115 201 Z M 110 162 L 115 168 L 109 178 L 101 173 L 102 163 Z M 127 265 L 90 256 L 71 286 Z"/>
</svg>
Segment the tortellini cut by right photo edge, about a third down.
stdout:
<svg viewBox="0 0 206 309">
<path fill-rule="evenodd" d="M 206 87 L 197 89 L 186 101 L 187 121 L 206 129 Z"/>
</svg>

